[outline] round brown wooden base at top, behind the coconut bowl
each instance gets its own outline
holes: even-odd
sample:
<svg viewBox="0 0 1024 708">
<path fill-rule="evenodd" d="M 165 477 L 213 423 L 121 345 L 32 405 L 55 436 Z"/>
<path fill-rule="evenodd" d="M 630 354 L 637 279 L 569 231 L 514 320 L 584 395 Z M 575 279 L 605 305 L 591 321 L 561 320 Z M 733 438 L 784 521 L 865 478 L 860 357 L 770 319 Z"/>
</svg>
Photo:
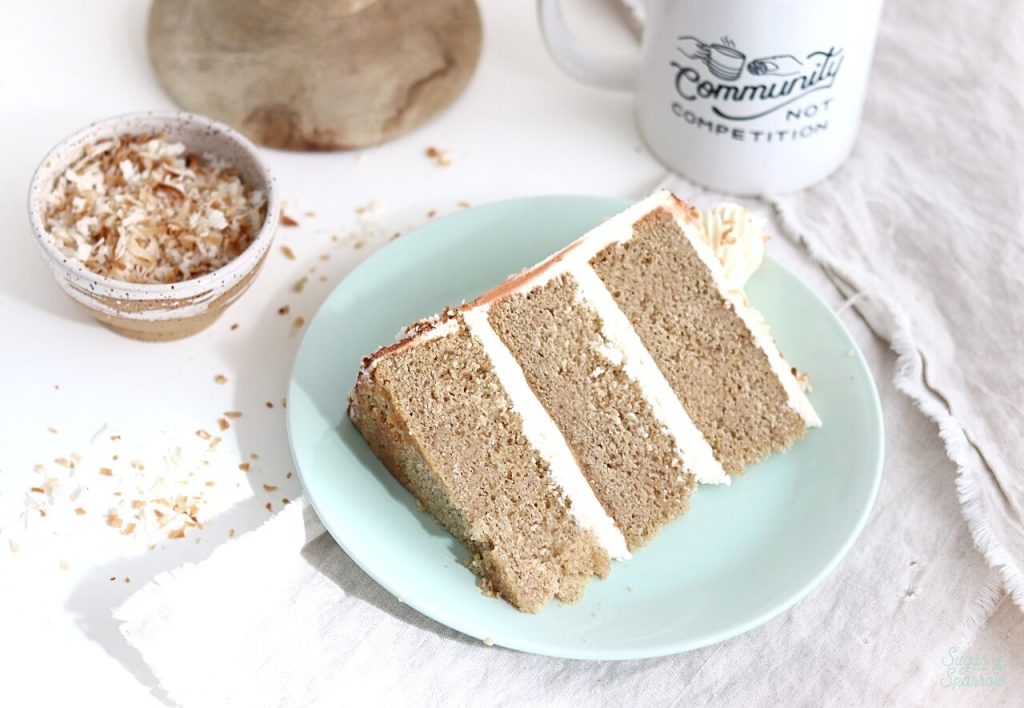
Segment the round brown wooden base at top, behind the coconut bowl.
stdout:
<svg viewBox="0 0 1024 708">
<path fill-rule="evenodd" d="M 155 0 L 148 42 L 185 110 L 272 148 L 346 150 L 450 106 L 481 30 L 473 0 Z"/>
</svg>

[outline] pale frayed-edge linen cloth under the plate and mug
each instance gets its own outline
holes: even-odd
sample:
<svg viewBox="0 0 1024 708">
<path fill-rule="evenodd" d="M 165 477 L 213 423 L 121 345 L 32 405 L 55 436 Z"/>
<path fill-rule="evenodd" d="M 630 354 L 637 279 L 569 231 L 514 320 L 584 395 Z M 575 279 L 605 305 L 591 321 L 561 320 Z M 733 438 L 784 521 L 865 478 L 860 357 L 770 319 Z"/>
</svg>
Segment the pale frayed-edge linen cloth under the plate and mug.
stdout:
<svg viewBox="0 0 1024 708">
<path fill-rule="evenodd" d="M 844 304 L 795 241 L 769 245 L 844 309 L 886 415 L 876 507 L 807 598 L 675 657 L 530 656 L 400 603 L 297 502 L 116 611 L 168 698 L 189 707 L 1019 705 L 1024 621 L 1005 588 L 1021 603 L 1024 19 L 1015 3 L 941 5 L 889 3 L 853 159 L 771 202 L 781 233 L 852 295 Z M 681 192 L 698 206 L 715 199 Z M 1001 680 L 949 686 L 953 655 L 1001 660 L 975 673 Z"/>
</svg>

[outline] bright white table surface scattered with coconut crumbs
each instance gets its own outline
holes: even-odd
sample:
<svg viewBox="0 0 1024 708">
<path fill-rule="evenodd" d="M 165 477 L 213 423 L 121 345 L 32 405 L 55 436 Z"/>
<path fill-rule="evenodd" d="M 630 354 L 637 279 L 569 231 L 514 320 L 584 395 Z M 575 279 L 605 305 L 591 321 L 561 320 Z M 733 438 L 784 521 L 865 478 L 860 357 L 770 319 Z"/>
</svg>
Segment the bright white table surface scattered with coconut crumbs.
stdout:
<svg viewBox="0 0 1024 708">
<path fill-rule="evenodd" d="M 267 502 L 279 509 L 282 498 L 300 494 L 297 478 L 288 475 L 281 406 L 301 338 L 293 323 L 308 321 L 354 263 L 394 233 L 425 222 L 429 212 L 439 216 L 462 202 L 640 196 L 660 180 L 663 169 L 640 147 L 630 98 L 561 74 L 544 50 L 532 3 L 480 5 L 479 68 L 440 118 L 360 152 L 264 152 L 286 210 L 300 226 L 279 232 L 263 273 L 219 322 L 170 343 L 125 339 L 77 309 L 38 256 L 26 210 L 33 170 L 67 134 L 119 113 L 172 108 L 146 58 L 147 3 L 54 0 L 0 8 L 6 136 L 0 169 L 6 256 L 0 259 L 0 705 L 160 704 L 111 608 L 158 573 L 203 559 L 229 534 L 258 526 L 269 516 Z M 628 49 L 631 39 L 613 11 L 589 5 L 587 17 L 582 2 L 570 7 L 583 35 Z M 424 155 L 428 147 L 450 151 L 453 164 L 433 164 Z M 377 207 L 357 214 L 368 204 Z M 285 244 L 295 260 L 283 255 Z M 295 293 L 292 285 L 303 276 L 308 285 Z M 280 316 L 286 304 L 289 315 Z M 227 383 L 215 383 L 218 374 Z M 219 432 L 225 411 L 244 415 Z M 196 436 L 200 428 L 223 438 L 213 452 Z M 75 462 L 74 474 L 55 462 L 59 458 Z M 132 461 L 143 469 L 133 469 Z M 248 473 L 239 469 L 243 461 L 251 464 Z M 99 473 L 104 466 L 111 476 Z M 183 482 L 180 489 L 202 492 L 201 530 L 183 539 L 168 538 L 167 529 L 129 537 L 106 524 L 115 492 L 121 499 L 138 496 L 157 477 L 172 489 Z M 51 495 L 30 491 L 47 480 L 57 480 Z M 276 489 L 269 493 L 263 485 Z M 73 498 L 77 490 L 81 496 Z"/>
</svg>

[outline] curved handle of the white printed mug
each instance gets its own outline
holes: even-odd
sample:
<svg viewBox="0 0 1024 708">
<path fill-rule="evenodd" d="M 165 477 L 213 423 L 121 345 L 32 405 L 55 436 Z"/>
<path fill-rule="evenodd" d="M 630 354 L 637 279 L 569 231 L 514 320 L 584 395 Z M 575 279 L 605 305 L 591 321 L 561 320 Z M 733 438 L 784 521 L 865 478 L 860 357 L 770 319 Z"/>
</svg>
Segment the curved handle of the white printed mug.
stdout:
<svg viewBox="0 0 1024 708">
<path fill-rule="evenodd" d="M 566 74 L 601 88 L 632 91 L 640 74 L 640 54 L 601 56 L 584 47 L 565 23 L 561 0 L 538 0 L 541 35 L 555 64 Z"/>
</svg>

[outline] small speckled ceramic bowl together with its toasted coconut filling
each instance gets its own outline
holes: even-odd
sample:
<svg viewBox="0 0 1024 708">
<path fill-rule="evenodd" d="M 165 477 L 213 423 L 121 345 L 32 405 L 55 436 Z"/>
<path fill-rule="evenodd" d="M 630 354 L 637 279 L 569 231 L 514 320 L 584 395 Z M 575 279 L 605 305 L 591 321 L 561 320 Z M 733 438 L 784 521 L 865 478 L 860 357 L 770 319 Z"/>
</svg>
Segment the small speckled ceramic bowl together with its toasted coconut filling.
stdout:
<svg viewBox="0 0 1024 708">
<path fill-rule="evenodd" d="M 127 336 L 212 324 L 259 272 L 280 214 L 249 140 L 185 113 L 101 121 L 36 171 L 30 215 L 65 292 Z"/>
</svg>

